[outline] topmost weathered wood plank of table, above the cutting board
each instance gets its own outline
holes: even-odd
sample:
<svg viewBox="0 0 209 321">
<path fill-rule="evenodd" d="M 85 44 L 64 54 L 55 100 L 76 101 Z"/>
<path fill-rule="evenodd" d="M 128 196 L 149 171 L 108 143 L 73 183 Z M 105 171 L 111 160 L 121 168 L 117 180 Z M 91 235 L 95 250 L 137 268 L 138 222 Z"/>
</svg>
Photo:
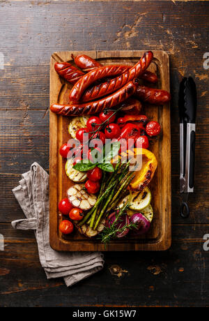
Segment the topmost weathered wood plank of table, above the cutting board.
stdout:
<svg viewBox="0 0 209 321">
<path fill-rule="evenodd" d="M 141 1 L 132 6 L 119 1 L 114 6 L 111 2 L 3 2 L 5 64 L 39 66 L 57 50 L 148 48 L 170 52 L 171 63 L 182 73 L 194 68 L 199 77 L 206 77 L 207 72 L 198 71 L 196 56 L 201 61 L 207 51 L 207 18 L 208 3 L 203 1 Z"/>
</svg>

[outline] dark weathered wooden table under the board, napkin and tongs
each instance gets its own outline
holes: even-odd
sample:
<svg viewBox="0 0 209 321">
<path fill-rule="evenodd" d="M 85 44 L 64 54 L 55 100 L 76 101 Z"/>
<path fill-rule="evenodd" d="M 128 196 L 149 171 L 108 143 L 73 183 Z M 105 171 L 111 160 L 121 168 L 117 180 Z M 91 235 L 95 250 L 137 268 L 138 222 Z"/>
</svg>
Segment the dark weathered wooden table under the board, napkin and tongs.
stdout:
<svg viewBox="0 0 209 321">
<path fill-rule="evenodd" d="M 208 18 L 206 1 L 0 1 L 0 306 L 208 306 Z M 47 281 L 33 232 L 11 227 L 24 217 L 11 190 L 33 161 L 49 168 L 50 55 L 116 49 L 170 55 L 173 243 L 161 253 L 105 253 L 102 271 L 68 289 L 61 279 Z M 195 77 L 198 89 L 195 193 L 187 220 L 178 213 L 183 75 Z"/>
</svg>

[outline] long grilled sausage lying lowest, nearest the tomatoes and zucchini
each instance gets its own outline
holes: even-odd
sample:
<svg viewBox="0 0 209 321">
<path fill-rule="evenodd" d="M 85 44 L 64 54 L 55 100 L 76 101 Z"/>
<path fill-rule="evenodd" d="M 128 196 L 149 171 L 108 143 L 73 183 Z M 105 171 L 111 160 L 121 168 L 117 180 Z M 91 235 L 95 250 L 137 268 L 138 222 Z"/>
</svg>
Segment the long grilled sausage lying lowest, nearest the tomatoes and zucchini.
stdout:
<svg viewBox="0 0 209 321">
<path fill-rule="evenodd" d="M 102 112 L 105 108 L 111 109 L 112 107 L 123 103 L 127 98 L 132 96 L 137 91 L 138 80 L 128 82 L 123 86 L 123 88 L 114 92 L 105 98 L 102 98 L 91 103 L 84 104 L 72 104 L 72 105 L 51 105 L 50 110 L 56 114 L 61 114 L 63 116 L 80 116 L 82 114 L 96 114 Z"/>
</svg>

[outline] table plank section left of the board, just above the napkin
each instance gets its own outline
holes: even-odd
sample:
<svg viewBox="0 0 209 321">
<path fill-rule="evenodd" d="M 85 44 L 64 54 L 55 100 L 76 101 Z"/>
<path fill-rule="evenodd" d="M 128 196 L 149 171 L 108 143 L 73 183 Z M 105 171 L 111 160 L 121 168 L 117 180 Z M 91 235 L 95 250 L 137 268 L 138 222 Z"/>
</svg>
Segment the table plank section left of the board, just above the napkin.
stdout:
<svg viewBox="0 0 209 321">
<path fill-rule="evenodd" d="M 49 114 L 44 110 L 0 110 L 1 173 L 21 173 L 37 161 L 48 167 Z"/>
</svg>

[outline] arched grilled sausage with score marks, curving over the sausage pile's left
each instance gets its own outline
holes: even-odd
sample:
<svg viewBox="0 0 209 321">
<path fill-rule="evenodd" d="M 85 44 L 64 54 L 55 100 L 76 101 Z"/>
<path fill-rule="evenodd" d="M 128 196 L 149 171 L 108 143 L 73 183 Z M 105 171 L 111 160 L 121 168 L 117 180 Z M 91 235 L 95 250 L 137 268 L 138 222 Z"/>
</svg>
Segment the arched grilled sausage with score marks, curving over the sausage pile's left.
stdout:
<svg viewBox="0 0 209 321">
<path fill-rule="evenodd" d="M 126 67 L 126 68 L 127 68 L 126 70 L 128 70 L 128 67 Z M 70 101 L 77 103 L 79 101 L 79 99 L 82 97 L 82 94 L 84 93 L 84 91 L 91 84 L 93 84 L 93 82 L 96 82 L 97 80 L 104 78 L 104 77 L 121 75 L 121 73 L 123 71 L 124 71 L 124 66 L 111 65 L 111 66 L 100 67 L 100 68 L 90 71 L 89 73 L 86 73 L 86 75 L 81 77 L 77 81 L 77 83 L 72 87 L 72 89 L 70 91 Z M 133 80 L 133 78 L 130 80 Z M 123 87 L 124 84 L 122 84 L 122 86 L 120 86 L 119 88 Z M 119 89 L 119 88 L 117 88 L 117 89 Z"/>
</svg>

